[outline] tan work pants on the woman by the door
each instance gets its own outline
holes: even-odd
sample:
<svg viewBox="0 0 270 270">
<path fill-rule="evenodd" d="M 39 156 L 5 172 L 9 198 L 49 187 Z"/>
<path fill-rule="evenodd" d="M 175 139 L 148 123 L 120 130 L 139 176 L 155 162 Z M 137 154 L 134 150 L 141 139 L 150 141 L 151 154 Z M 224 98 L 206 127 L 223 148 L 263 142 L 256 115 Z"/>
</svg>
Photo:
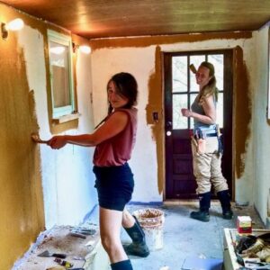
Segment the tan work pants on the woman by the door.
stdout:
<svg viewBox="0 0 270 270">
<path fill-rule="evenodd" d="M 221 173 L 221 155 L 218 148 L 217 137 L 208 137 L 206 138 L 205 153 L 198 154 L 195 142 L 192 139 L 193 174 L 198 185 L 197 194 L 210 192 L 211 184 L 215 193 L 228 190 L 227 181 Z"/>
</svg>

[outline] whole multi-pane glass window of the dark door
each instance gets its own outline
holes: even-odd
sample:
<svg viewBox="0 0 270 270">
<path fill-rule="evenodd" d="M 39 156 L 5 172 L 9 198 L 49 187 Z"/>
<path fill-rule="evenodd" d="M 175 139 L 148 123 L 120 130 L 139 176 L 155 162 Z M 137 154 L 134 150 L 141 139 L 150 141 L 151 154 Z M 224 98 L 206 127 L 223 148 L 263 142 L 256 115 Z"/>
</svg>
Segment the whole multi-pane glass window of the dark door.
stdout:
<svg viewBox="0 0 270 270">
<path fill-rule="evenodd" d="M 208 52 L 207 54 L 179 55 L 172 58 L 172 102 L 173 102 L 173 129 L 192 129 L 193 118 L 182 116 L 181 108 L 191 107 L 196 95 L 198 94 L 198 85 L 195 76 L 189 69 L 189 65 L 199 67 L 202 61 L 209 61 L 215 67 L 215 76 L 217 78 L 217 87 L 219 89 L 219 102 L 217 103 L 217 123 L 223 128 L 223 54 Z"/>
</svg>

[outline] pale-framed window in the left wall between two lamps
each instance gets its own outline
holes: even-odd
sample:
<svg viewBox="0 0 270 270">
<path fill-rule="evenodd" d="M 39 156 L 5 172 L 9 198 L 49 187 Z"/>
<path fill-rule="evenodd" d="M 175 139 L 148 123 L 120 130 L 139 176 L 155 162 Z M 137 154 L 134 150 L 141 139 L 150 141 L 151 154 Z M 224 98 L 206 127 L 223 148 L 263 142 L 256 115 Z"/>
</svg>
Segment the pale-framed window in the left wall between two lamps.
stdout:
<svg viewBox="0 0 270 270">
<path fill-rule="evenodd" d="M 72 41 L 67 35 L 49 30 L 48 43 L 52 118 L 59 119 L 75 111 Z"/>
</svg>

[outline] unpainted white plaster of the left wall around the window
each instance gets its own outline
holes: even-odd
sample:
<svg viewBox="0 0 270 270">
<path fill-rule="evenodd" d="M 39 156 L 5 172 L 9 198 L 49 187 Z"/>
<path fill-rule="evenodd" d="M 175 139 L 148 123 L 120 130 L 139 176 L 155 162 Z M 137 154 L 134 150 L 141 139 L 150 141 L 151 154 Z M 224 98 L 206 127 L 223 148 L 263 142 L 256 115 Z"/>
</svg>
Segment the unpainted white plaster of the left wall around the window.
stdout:
<svg viewBox="0 0 270 270">
<path fill-rule="evenodd" d="M 34 91 L 36 115 L 41 139 L 51 137 L 49 131 L 48 101 L 43 36 L 38 30 L 25 26 L 19 33 L 19 46 L 23 48 L 30 90 Z M 90 103 L 90 56 L 78 55 L 77 101 L 82 113 L 77 130 L 67 134 L 88 132 L 93 129 Z M 31 135 L 31 134 L 30 134 Z M 40 145 L 41 177 L 45 204 L 46 227 L 57 224 L 77 225 L 96 204 L 94 175 L 92 173 L 93 148 L 67 146 L 52 150 Z"/>
</svg>

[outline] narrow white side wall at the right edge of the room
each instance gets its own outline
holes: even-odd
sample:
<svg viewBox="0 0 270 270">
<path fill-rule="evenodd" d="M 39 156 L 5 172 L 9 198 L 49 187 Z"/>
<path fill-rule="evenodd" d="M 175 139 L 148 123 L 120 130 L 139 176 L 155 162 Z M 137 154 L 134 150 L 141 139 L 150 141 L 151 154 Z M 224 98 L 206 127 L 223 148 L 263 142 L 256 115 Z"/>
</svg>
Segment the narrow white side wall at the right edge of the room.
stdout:
<svg viewBox="0 0 270 270">
<path fill-rule="evenodd" d="M 266 222 L 267 198 L 270 189 L 270 124 L 266 121 L 268 80 L 268 29 L 269 24 L 255 32 L 256 38 L 256 72 L 253 99 L 254 135 L 254 196 L 255 206 L 262 220 Z"/>
</svg>

